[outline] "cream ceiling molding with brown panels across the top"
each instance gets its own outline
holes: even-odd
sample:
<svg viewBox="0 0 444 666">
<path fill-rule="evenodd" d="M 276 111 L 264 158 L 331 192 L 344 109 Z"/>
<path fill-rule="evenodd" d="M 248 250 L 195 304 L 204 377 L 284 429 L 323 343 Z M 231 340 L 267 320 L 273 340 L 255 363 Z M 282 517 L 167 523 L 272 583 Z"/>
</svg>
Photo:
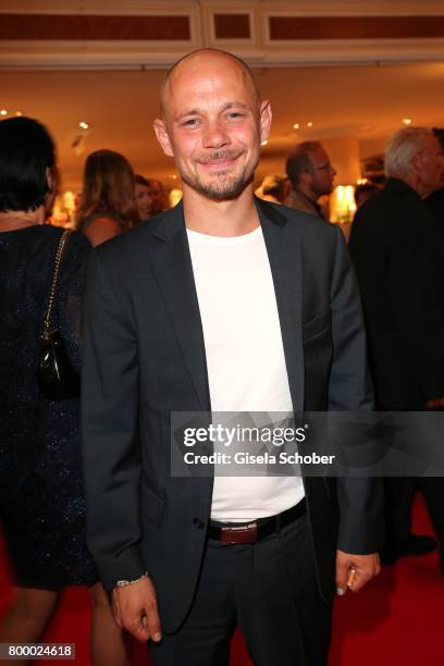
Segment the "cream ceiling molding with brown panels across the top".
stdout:
<svg viewBox="0 0 444 666">
<path fill-rule="evenodd" d="M 14 37 L 10 38 L 7 28 L 3 27 L 2 32 L 0 27 L 0 70 L 163 69 L 187 52 L 206 47 L 233 51 L 251 66 L 269 67 L 444 60 L 442 0 L 421 3 L 400 0 L 391 0 L 390 3 L 367 0 L 21 0 L 17 3 L 15 0 L 15 4 L 18 9 L 11 0 L 0 0 L 0 14 L 13 15 L 10 17 L 13 27 L 10 32 Z M 411 14 L 419 4 L 421 18 L 412 21 Z M 53 22 L 51 37 L 61 33 L 55 27 L 60 27 L 65 17 L 66 25 L 71 22 L 70 25 L 75 26 L 73 35 L 76 39 L 40 39 L 39 36 L 48 34 L 49 27 L 44 25 L 45 29 L 38 33 L 36 24 L 33 34 L 29 12 L 39 14 L 39 17 L 47 16 L 48 24 Z M 433 12 L 435 21 L 430 12 Z M 29 15 L 28 22 L 26 14 Z M 215 16 L 221 14 L 223 21 L 219 21 L 218 33 Z M 234 37 L 227 36 L 230 14 L 234 16 L 233 26 L 236 26 Z M 119 39 L 109 39 L 112 35 L 110 26 L 119 26 L 118 16 L 126 16 L 127 21 L 120 21 Z M 136 39 L 132 38 L 131 26 L 135 25 L 135 16 L 140 16 L 140 27 L 144 24 L 148 26 L 149 17 L 152 17 L 152 24 L 157 20 L 159 26 L 163 22 L 163 33 L 160 26 L 156 38 L 156 30 L 149 26 L 146 35 L 151 38 L 141 39 L 136 25 L 133 33 Z M 338 16 L 342 16 L 341 21 Z M 164 29 L 169 17 L 188 18 L 189 39 L 174 38 L 172 32 Z M 292 23 L 293 27 L 289 29 L 284 21 L 285 30 L 282 30 L 281 23 L 281 35 L 275 33 L 273 39 L 270 17 L 289 17 L 293 21 L 286 23 Z M 395 37 L 397 24 L 399 34 L 409 35 L 409 38 Z M 7 16 L 3 25 L 8 25 Z M 97 29 L 94 39 L 85 38 L 94 25 Z M 65 30 L 66 26 L 62 26 Z M 378 34 L 378 26 L 381 35 L 378 38 L 356 38 Z M 29 39 L 22 39 L 22 36 L 26 37 L 26 30 L 30 30 Z M 424 30 L 429 35 L 427 38 Z M 305 35 L 310 39 L 298 38 Z M 340 38 L 331 39 L 330 35 Z"/>
</svg>

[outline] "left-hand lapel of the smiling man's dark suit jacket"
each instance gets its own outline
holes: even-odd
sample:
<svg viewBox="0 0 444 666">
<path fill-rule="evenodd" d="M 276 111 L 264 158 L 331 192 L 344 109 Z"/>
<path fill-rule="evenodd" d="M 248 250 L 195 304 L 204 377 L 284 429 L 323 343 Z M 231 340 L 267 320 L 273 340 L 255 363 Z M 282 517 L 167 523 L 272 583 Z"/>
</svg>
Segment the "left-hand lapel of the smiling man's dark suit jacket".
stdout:
<svg viewBox="0 0 444 666">
<path fill-rule="evenodd" d="M 153 235 L 157 242 L 150 259 L 156 279 L 200 407 L 203 411 L 210 411 L 203 331 L 182 203 L 164 214 Z"/>
</svg>

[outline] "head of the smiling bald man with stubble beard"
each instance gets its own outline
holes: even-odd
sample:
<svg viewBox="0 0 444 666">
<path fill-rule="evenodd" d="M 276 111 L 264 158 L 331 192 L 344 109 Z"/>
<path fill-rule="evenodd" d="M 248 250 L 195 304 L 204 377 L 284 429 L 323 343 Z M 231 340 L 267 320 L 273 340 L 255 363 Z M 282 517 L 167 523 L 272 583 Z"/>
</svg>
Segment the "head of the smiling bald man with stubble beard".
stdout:
<svg viewBox="0 0 444 666">
<path fill-rule="evenodd" d="M 247 65 L 225 51 L 202 49 L 180 60 L 161 90 L 155 131 L 184 182 L 206 198 L 236 198 L 252 182 L 271 111 Z"/>
</svg>

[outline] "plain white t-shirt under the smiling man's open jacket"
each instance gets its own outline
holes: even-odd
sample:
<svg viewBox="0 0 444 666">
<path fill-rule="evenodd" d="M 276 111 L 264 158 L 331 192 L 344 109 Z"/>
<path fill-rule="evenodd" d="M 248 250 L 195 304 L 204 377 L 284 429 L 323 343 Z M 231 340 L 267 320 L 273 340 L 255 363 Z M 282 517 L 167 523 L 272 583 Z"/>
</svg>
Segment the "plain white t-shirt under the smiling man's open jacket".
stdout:
<svg viewBox="0 0 444 666">
<path fill-rule="evenodd" d="M 187 234 L 212 412 L 292 412 L 261 227 L 243 236 L 210 236 L 190 230 Z M 215 474 L 211 518 L 247 522 L 280 514 L 303 497 L 300 477 Z"/>
</svg>

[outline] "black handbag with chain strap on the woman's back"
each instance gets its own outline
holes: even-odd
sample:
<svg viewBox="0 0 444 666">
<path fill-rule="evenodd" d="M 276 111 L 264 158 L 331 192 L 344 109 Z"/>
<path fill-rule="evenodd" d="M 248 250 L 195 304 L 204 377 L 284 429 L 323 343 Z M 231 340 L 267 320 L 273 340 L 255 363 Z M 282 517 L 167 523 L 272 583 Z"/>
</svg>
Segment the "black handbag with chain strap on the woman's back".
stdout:
<svg viewBox="0 0 444 666">
<path fill-rule="evenodd" d="M 48 400 L 77 398 L 81 395 L 81 378 L 73 370 L 60 331 L 51 330 L 51 312 L 59 280 L 60 264 L 66 248 L 71 231 L 65 230 L 59 240 L 51 292 L 45 314 L 44 330 L 40 335 L 40 359 L 38 365 L 38 384 L 41 394 Z"/>
</svg>

